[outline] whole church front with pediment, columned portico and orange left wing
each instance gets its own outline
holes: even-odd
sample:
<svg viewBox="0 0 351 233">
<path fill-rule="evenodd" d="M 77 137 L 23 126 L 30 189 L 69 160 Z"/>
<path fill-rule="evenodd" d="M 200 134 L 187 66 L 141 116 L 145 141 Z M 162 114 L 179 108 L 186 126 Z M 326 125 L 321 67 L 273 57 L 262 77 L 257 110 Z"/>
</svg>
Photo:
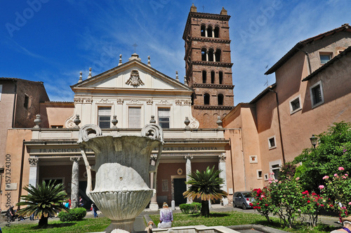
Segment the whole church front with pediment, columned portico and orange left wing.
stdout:
<svg viewBox="0 0 351 233">
<path fill-rule="evenodd" d="M 223 170 L 225 179 L 228 140 L 220 123 L 216 119 L 216 128 L 199 128 L 192 115 L 192 88 L 152 68 L 150 58 L 144 63 L 135 53 L 127 62 L 120 57 L 117 67 L 96 76 L 90 72 L 87 79 L 80 76 L 77 81 L 71 86 L 73 102 L 41 102 L 33 128 L 8 130 L 11 179 L 3 181 L 1 208 L 20 201 L 25 185 L 44 180 L 62 182 L 69 197 L 82 197 L 89 208 L 86 169 L 77 145 L 79 128 L 86 124 L 98 125 L 103 135 L 116 136 L 140 135 L 150 122 L 163 128 L 165 145 L 150 208 L 164 201 L 175 200 L 176 205 L 190 201 L 183 197 L 185 180 L 197 169 L 215 166 Z M 87 155 L 94 164 L 93 152 Z M 72 195 L 74 190 L 78 195 Z"/>
</svg>

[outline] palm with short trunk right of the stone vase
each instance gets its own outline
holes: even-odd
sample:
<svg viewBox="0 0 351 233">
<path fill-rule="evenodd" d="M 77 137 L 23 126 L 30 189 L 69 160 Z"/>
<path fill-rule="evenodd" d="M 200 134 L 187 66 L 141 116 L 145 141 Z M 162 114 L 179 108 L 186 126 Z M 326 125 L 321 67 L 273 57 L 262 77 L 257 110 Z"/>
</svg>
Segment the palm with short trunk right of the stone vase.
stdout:
<svg viewBox="0 0 351 233">
<path fill-rule="evenodd" d="M 215 166 L 211 169 L 208 166 L 206 171 L 197 170 L 189 175 L 190 180 L 185 182 L 191 186 L 183 192 L 183 196 L 191 199 L 201 198 L 201 216 L 209 217 L 210 215 L 208 200 L 222 199 L 228 195 L 227 192 L 220 189 L 220 185 L 224 183 L 223 178 L 218 177 L 221 172 L 221 170 L 215 171 Z"/>
</svg>

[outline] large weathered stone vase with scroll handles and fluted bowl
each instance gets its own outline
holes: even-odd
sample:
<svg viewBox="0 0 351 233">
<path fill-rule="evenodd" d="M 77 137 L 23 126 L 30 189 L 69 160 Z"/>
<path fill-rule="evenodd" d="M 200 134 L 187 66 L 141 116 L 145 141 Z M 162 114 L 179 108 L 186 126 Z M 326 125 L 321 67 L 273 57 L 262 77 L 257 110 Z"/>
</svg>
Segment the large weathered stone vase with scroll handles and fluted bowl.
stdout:
<svg viewBox="0 0 351 233">
<path fill-rule="evenodd" d="M 79 131 L 81 154 L 86 165 L 86 194 L 99 210 L 112 220 L 106 232 L 124 229 L 134 232 L 135 218 L 149 204 L 155 190 L 150 188 L 150 173 L 157 172 L 163 145 L 162 128 L 147 124 L 142 135 L 102 135 L 95 125 Z M 158 147 L 155 165 L 150 164 L 152 150 Z M 92 189 L 91 166 L 86 149 L 95 153 L 95 187 Z M 156 187 L 156 174 L 153 187 Z"/>
</svg>

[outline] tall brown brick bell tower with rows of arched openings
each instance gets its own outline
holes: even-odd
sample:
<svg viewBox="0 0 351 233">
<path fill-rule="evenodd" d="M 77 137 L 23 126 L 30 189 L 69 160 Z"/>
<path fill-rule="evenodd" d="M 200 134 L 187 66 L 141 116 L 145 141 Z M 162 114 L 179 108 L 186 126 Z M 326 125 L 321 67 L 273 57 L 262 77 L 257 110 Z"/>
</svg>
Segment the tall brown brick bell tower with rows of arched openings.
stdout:
<svg viewBox="0 0 351 233">
<path fill-rule="evenodd" d="M 192 115 L 200 128 L 217 128 L 218 116 L 222 119 L 234 108 L 229 20 L 225 8 L 219 15 L 199 13 L 194 4 L 187 16 L 185 81 L 194 89 Z"/>
</svg>

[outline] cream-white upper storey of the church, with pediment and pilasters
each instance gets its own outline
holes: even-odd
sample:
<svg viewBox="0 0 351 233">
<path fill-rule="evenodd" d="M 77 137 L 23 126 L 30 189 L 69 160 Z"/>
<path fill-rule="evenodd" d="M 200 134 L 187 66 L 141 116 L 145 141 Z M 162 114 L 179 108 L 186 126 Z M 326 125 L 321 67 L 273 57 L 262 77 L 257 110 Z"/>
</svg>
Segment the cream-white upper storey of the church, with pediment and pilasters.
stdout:
<svg viewBox="0 0 351 233">
<path fill-rule="evenodd" d="M 80 126 L 98 124 L 99 107 L 111 107 L 111 120 L 117 116 L 117 128 L 130 128 L 130 107 L 140 107 L 140 128 L 150 123 L 151 116 L 159 124 L 160 107 L 169 109 L 169 128 L 185 128 L 185 117 L 190 119 L 191 128 L 199 128 L 199 122 L 192 116 L 192 89 L 145 65 L 136 54 L 128 62 L 88 77 L 71 88 L 74 114 L 66 120 L 66 128 L 75 126 L 73 120 L 77 114 Z"/>
</svg>

